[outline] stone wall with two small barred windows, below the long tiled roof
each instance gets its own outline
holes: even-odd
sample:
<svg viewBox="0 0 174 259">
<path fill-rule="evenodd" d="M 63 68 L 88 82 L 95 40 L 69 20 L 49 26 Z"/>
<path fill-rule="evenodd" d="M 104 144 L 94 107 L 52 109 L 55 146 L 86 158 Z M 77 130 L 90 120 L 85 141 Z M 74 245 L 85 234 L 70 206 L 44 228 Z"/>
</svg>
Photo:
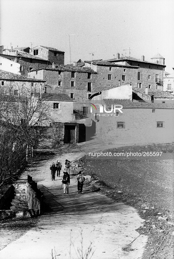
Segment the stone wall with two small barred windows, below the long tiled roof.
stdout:
<svg viewBox="0 0 174 259">
<path fill-rule="evenodd" d="M 102 117 L 96 122 L 96 134 L 107 143 L 118 145 L 171 143 L 174 141 L 173 109 L 122 109 L 117 117 Z M 117 128 L 125 122 L 125 128 Z M 157 128 L 157 122 L 164 122 Z"/>
</svg>

